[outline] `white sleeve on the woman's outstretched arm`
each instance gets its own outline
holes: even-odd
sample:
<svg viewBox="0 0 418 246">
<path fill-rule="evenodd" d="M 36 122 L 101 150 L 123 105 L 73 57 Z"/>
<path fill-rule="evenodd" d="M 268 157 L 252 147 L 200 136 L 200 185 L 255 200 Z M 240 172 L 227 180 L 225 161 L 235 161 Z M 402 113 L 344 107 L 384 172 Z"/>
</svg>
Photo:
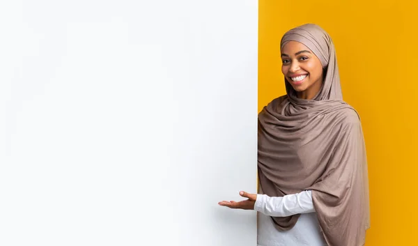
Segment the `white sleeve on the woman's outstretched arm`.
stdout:
<svg viewBox="0 0 418 246">
<path fill-rule="evenodd" d="M 311 190 L 288 194 L 284 197 L 269 197 L 266 194 L 257 194 L 254 210 L 273 217 L 315 212 Z"/>
</svg>

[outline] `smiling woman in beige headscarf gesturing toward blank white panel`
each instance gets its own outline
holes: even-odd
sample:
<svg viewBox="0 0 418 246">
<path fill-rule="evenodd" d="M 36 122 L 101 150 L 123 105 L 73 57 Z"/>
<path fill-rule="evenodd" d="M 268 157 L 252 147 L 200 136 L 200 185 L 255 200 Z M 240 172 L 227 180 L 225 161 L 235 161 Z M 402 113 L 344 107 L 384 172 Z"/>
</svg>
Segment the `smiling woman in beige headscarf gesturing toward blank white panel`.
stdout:
<svg viewBox="0 0 418 246">
<path fill-rule="evenodd" d="M 258 115 L 258 194 L 219 205 L 259 212 L 259 246 L 364 245 L 366 149 L 359 116 L 342 98 L 332 39 L 304 24 L 280 48 L 287 93 Z"/>
</svg>

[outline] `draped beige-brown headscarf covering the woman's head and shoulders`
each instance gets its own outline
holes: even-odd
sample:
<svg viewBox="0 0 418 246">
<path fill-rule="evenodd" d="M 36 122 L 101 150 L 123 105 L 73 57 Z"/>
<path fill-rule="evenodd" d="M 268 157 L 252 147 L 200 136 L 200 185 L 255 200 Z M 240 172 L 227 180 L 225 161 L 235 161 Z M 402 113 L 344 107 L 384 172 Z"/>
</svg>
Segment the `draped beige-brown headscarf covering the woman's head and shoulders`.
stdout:
<svg viewBox="0 0 418 246">
<path fill-rule="evenodd" d="M 323 65 L 323 86 L 313 100 L 297 98 L 285 79 L 287 95 L 272 100 L 258 115 L 258 176 L 270 197 L 312 190 L 320 229 L 330 246 L 364 245 L 369 228 L 369 179 L 362 125 L 343 102 L 334 44 L 316 24 L 291 29 L 281 49 L 295 40 Z M 272 217 L 280 231 L 300 215 Z"/>
</svg>

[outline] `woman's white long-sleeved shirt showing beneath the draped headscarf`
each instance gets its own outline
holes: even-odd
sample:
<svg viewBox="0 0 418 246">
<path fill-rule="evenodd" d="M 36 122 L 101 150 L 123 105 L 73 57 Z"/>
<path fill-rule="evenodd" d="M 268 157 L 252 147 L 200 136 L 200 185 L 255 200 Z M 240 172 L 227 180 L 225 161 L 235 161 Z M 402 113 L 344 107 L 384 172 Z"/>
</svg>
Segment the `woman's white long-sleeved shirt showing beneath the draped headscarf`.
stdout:
<svg viewBox="0 0 418 246">
<path fill-rule="evenodd" d="M 284 197 L 257 194 L 254 210 L 257 213 L 258 246 L 326 246 L 316 217 L 312 192 L 307 190 Z M 270 216 L 286 217 L 301 214 L 295 226 L 288 231 L 278 231 Z"/>
</svg>

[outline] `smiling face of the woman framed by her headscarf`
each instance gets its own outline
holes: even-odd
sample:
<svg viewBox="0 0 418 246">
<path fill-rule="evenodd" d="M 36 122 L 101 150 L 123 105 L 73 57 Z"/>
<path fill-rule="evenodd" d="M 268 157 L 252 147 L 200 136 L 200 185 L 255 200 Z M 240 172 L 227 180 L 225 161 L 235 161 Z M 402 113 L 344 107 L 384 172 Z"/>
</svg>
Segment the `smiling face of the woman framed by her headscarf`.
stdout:
<svg viewBox="0 0 418 246">
<path fill-rule="evenodd" d="M 323 67 L 314 52 L 302 43 L 289 41 L 281 50 L 281 61 L 281 72 L 297 97 L 314 98 L 323 83 Z"/>
</svg>

